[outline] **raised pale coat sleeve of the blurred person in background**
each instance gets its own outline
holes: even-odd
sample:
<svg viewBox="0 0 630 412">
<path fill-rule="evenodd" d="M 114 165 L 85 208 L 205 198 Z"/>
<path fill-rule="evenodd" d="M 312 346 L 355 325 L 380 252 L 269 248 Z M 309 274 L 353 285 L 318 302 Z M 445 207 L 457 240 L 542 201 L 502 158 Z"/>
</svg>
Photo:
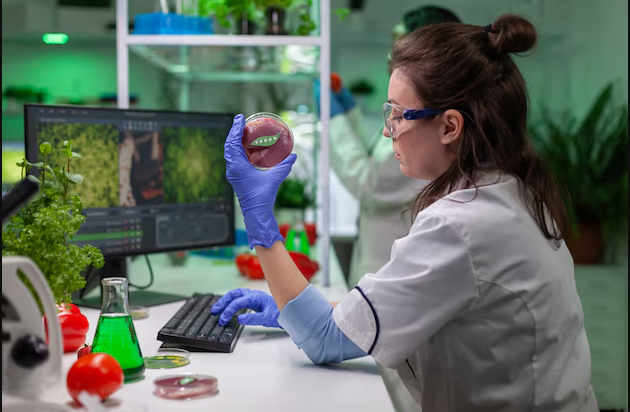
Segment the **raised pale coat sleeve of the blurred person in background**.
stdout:
<svg viewBox="0 0 630 412">
<path fill-rule="evenodd" d="M 391 140 L 368 134 L 360 123 L 358 109 L 330 120 L 333 170 L 360 203 L 372 207 L 409 206 L 426 183 L 403 175 Z"/>
</svg>

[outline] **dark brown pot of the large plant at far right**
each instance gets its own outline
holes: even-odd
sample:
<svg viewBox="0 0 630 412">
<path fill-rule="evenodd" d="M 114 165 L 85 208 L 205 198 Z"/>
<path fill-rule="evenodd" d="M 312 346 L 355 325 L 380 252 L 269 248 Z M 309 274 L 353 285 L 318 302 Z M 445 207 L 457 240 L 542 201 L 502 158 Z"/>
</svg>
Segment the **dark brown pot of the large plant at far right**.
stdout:
<svg viewBox="0 0 630 412">
<path fill-rule="evenodd" d="M 564 240 L 576 265 L 597 265 L 602 262 L 605 245 L 601 223 L 580 222 L 577 233 L 569 233 Z"/>
</svg>

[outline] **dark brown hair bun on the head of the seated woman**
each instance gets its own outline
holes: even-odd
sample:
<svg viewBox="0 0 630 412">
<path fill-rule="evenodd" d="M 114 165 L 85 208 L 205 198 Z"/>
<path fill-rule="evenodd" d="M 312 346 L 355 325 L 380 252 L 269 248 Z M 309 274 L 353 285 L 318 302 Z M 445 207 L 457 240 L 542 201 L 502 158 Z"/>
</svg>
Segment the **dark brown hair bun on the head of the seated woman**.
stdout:
<svg viewBox="0 0 630 412">
<path fill-rule="evenodd" d="M 523 17 L 504 14 L 490 25 L 488 38 L 499 54 L 523 53 L 536 45 L 536 29 Z"/>
</svg>

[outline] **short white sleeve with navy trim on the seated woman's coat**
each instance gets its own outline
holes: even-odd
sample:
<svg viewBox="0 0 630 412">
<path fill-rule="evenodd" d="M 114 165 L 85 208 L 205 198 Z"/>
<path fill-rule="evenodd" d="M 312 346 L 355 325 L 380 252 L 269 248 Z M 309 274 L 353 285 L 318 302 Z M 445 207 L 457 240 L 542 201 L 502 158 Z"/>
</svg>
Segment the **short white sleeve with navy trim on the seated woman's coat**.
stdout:
<svg viewBox="0 0 630 412">
<path fill-rule="evenodd" d="M 339 302 L 339 328 L 377 362 L 396 367 L 478 296 L 468 239 L 442 216 L 418 217 L 392 258 Z"/>
</svg>

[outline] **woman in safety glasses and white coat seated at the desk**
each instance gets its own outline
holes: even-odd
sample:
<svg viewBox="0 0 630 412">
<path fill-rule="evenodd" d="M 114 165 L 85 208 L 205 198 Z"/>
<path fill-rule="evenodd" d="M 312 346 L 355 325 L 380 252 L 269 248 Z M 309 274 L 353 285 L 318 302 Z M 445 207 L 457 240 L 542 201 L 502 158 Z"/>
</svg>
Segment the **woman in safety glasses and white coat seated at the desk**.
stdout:
<svg viewBox="0 0 630 412">
<path fill-rule="evenodd" d="M 273 298 L 228 292 L 212 309 L 220 322 L 249 307 L 257 313 L 239 321 L 281 325 L 315 363 L 371 355 L 424 412 L 597 411 L 564 205 L 526 139 L 525 82 L 510 57 L 535 42 L 512 15 L 396 42 L 383 135 L 402 173 L 431 183 L 390 261 L 334 307 L 300 274 L 273 216 L 296 157 L 253 168 L 237 116 L 226 173 Z"/>
</svg>

